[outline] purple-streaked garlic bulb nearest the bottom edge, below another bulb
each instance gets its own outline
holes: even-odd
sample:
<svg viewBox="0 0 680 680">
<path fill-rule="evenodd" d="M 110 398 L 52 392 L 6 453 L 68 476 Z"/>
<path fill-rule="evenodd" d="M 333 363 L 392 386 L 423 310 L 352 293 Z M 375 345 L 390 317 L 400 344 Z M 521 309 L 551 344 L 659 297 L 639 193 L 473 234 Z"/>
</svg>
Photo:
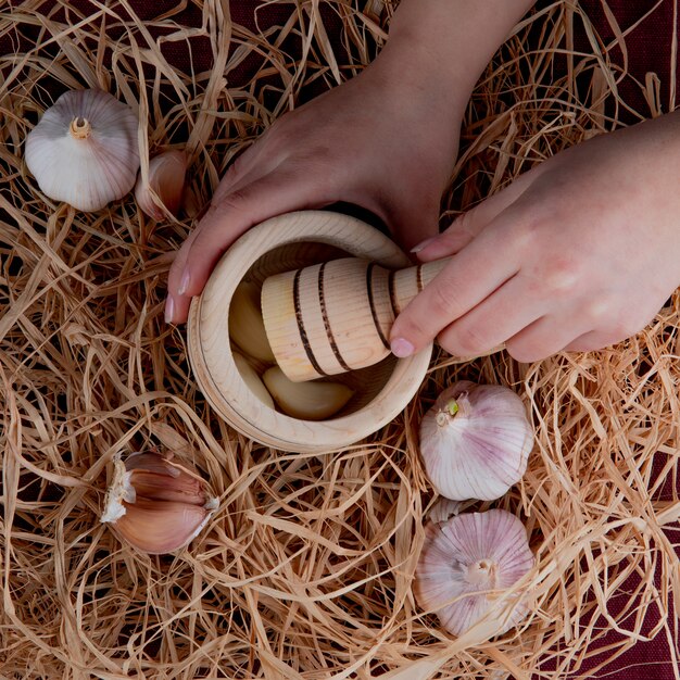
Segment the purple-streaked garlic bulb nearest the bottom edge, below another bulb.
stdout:
<svg viewBox="0 0 680 680">
<path fill-rule="evenodd" d="M 481 619 L 484 637 L 500 635 L 529 610 L 526 591 L 512 589 L 533 563 L 527 531 L 515 515 L 463 513 L 426 527 L 414 594 L 454 635 Z"/>
</svg>

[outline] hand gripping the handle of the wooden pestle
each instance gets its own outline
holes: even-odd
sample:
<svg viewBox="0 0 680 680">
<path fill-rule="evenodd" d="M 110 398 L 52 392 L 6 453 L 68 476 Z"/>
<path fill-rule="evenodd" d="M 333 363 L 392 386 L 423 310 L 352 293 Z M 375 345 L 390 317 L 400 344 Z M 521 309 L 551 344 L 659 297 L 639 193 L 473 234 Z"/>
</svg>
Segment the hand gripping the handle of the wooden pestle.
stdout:
<svg viewBox="0 0 680 680">
<path fill-rule="evenodd" d="M 639 331 L 680 285 L 680 115 L 603 135 L 531 169 L 418 249 L 453 255 L 395 320 L 405 356 L 520 362 Z"/>
</svg>

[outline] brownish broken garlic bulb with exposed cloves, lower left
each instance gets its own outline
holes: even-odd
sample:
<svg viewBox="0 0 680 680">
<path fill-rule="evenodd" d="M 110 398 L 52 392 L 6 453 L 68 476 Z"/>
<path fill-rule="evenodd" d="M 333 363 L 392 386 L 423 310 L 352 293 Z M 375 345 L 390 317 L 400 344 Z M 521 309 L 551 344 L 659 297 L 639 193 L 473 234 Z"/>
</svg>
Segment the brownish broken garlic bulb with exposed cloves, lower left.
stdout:
<svg viewBox="0 0 680 680">
<path fill-rule="evenodd" d="M 188 545 L 216 508 L 207 482 L 172 454 L 137 452 L 114 458 L 101 521 L 138 550 L 162 555 Z"/>
</svg>

